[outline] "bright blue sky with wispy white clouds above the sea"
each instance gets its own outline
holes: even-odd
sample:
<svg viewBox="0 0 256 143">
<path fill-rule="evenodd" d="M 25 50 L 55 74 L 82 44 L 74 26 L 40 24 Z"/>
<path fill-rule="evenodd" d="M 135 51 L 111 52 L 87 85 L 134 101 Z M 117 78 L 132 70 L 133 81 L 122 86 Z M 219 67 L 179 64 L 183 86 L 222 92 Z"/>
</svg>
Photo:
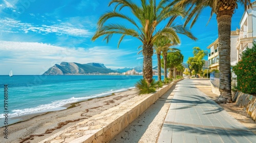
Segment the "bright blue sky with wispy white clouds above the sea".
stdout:
<svg viewBox="0 0 256 143">
<path fill-rule="evenodd" d="M 108 44 L 102 38 L 91 41 L 98 18 L 113 9 L 113 6 L 108 7 L 109 2 L 0 0 L 0 75 L 8 75 L 10 69 L 14 75 L 41 75 L 62 61 L 98 62 L 112 69 L 142 65 L 143 56 L 137 54 L 141 43 L 136 38 L 125 37 L 119 49 L 119 35 L 113 36 Z M 243 7 L 236 9 L 231 30 L 239 28 L 243 12 Z M 209 15 L 210 9 L 205 9 L 191 29 L 197 41 L 179 35 L 182 43 L 178 48 L 184 55 L 184 62 L 193 56 L 194 46 L 207 50 L 206 47 L 218 38 L 216 15 L 206 26 Z M 176 22 L 182 24 L 183 21 Z M 154 55 L 153 66 L 156 65 Z"/>
</svg>

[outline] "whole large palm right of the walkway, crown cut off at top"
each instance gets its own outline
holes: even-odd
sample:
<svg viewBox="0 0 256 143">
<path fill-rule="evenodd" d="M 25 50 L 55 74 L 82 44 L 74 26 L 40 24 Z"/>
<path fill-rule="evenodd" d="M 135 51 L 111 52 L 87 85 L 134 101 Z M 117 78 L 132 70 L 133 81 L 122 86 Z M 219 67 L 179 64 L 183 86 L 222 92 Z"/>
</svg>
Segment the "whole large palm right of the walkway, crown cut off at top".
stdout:
<svg viewBox="0 0 256 143">
<path fill-rule="evenodd" d="M 181 0 L 177 7 L 188 7 L 187 19 L 184 26 L 191 21 L 190 28 L 199 18 L 200 13 L 206 7 L 211 8 L 211 14 L 217 15 L 218 33 L 219 33 L 219 65 L 220 65 L 220 96 L 216 100 L 218 103 L 232 102 L 231 100 L 231 71 L 230 71 L 230 31 L 231 18 L 234 9 L 238 8 L 238 4 L 242 4 L 244 9 L 247 6 L 252 7 L 250 0 Z"/>
</svg>

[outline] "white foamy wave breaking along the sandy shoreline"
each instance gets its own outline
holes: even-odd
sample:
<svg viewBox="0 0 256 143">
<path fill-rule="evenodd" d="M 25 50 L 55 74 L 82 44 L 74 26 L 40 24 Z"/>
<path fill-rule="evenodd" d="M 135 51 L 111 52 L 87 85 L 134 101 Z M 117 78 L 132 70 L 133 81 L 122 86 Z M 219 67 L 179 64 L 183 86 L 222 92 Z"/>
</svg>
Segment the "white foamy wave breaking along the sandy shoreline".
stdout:
<svg viewBox="0 0 256 143">
<path fill-rule="evenodd" d="M 123 89 L 118 89 L 118 90 L 112 89 L 110 91 L 102 92 L 99 94 L 94 94 L 89 97 L 80 97 L 80 98 L 72 97 L 70 99 L 54 101 L 50 104 L 39 105 L 34 108 L 16 109 L 16 110 L 12 110 L 11 113 L 9 113 L 9 117 L 17 117 L 17 116 L 22 116 L 22 115 L 26 115 L 26 114 L 34 114 L 34 113 L 40 113 L 40 112 L 62 110 L 62 109 L 66 109 L 63 106 L 65 106 L 67 104 L 71 104 L 71 103 L 75 103 L 75 102 L 79 102 L 79 101 L 83 101 L 83 100 L 88 100 L 88 99 L 93 99 L 93 98 L 98 98 L 98 97 L 104 97 L 111 93 L 122 92 L 122 91 L 125 91 L 128 89 L 131 89 L 131 88 L 134 88 L 134 87 L 123 88 Z M 0 116 L 1 116 L 1 118 L 3 118 L 4 114 L 0 114 Z"/>
</svg>

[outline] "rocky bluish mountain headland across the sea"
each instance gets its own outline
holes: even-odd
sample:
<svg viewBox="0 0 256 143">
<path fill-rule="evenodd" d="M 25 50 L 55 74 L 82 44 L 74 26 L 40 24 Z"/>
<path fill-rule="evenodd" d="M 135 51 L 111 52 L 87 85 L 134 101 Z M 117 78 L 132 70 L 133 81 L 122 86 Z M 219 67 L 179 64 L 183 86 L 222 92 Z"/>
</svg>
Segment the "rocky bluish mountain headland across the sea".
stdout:
<svg viewBox="0 0 256 143">
<path fill-rule="evenodd" d="M 80 64 L 75 62 L 61 62 L 50 67 L 43 75 L 82 75 L 82 74 L 109 74 L 116 71 L 106 68 L 101 63 Z"/>
</svg>

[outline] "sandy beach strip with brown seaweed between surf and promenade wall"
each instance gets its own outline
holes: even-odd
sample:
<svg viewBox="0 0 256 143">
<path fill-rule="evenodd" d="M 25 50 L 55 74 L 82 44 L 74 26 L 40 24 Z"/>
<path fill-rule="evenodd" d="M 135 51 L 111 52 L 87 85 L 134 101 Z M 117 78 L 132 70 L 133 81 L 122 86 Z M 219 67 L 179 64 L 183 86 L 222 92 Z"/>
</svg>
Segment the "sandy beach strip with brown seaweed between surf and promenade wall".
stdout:
<svg viewBox="0 0 256 143">
<path fill-rule="evenodd" d="M 23 122 L 8 126 L 8 139 L 4 138 L 3 133 L 0 134 L 1 142 L 39 142 L 136 95 L 138 90 L 130 89 L 110 96 L 66 105 L 65 110 L 21 116 L 19 118 L 22 118 Z"/>
</svg>

